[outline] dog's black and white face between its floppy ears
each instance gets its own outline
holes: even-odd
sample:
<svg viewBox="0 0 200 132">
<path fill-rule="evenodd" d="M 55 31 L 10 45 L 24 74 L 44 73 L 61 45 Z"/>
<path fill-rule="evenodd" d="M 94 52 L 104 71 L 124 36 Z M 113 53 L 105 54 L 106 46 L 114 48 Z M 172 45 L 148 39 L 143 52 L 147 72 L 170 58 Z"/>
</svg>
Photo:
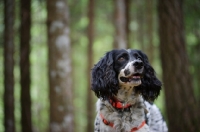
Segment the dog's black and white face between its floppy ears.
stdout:
<svg viewBox="0 0 200 132">
<path fill-rule="evenodd" d="M 114 70 L 123 86 L 138 86 L 144 73 L 143 57 L 136 50 L 119 50 L 114 56 Z"/>
</svg>

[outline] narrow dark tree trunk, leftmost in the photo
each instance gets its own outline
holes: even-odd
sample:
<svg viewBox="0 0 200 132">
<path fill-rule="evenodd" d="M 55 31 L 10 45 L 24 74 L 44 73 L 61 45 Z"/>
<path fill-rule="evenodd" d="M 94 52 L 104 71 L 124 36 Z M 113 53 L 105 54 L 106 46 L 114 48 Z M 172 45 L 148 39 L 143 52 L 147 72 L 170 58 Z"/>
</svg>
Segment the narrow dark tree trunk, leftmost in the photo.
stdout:
<svg viewBox="0 0 200 132">
<path fill-rule="evenodd" d="M 4 0 L 4 127 L 15 132 L 14 118 L 14 0 Z"/>
</svg>

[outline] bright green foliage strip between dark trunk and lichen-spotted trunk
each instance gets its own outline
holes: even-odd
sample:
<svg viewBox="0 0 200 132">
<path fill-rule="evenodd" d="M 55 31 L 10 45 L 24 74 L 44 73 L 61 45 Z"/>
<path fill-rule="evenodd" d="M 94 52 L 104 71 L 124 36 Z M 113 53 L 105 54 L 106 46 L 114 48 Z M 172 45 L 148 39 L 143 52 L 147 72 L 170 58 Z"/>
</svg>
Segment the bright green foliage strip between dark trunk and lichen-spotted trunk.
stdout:
<svg viewBox="0 0 200 132">
<path fill-rule="evenodd" d="M 35 131 L 47 131 L 49 123 L 48 55 L 46 3 L 32 2 L 31 28 L 31 99 L 32 123 Z"/>
</svg>

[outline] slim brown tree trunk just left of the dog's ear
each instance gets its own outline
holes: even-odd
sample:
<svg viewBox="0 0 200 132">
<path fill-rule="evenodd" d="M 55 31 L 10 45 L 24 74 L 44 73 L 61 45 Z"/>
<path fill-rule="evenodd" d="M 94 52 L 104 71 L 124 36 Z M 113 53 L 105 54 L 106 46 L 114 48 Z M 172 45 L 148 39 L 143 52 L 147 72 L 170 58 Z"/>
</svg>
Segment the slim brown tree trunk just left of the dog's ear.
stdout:
<svg viewBox="0 0 200 132">
<path fill-rule="evenodd" d="M 89 24 L 88 24 L 88 65 L 87 65 L 87 84 L 88 84 L 88 89 L 87 89 L 87 132 L 93 132 L 94 131 L 94 105 L 93 104 L 93 93 L 91 92 L 91 68 L 93 64 L 93 51 L 92 51 L 92 45 L 93 45 L 93 40 L 94 40 L 94 0 L 89 0 L 88 1 L 88 19 L 89 19 Z"/>
</svg>

